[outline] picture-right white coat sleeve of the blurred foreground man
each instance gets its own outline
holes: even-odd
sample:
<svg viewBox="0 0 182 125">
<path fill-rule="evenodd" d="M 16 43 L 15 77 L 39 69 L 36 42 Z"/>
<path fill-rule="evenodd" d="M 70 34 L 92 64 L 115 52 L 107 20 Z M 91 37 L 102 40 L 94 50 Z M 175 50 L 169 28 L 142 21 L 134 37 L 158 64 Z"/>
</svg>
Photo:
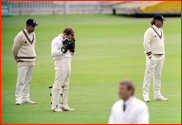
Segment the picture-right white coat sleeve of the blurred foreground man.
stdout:
<svg viewBox="0 0 182 125">
<path fill-rule="evenodd" d="M 139 109 L 136 124 L 149 124 L 149 112 L 146 104 Z"/>
</svg>

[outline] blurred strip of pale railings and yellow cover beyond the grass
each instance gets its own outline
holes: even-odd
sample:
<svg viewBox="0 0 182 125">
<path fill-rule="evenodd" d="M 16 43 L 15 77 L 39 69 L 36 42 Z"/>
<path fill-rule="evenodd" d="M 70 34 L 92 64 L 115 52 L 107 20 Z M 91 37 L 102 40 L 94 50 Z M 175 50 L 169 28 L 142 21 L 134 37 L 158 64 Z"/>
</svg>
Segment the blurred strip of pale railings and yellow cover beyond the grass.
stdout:
<svg viewBox="0 0 182 125">
<path fill-rule="evenodd" d="M 181 1 L 2 1 L 1 16 L 63 14 L 181 16 Z"/>
</svg>

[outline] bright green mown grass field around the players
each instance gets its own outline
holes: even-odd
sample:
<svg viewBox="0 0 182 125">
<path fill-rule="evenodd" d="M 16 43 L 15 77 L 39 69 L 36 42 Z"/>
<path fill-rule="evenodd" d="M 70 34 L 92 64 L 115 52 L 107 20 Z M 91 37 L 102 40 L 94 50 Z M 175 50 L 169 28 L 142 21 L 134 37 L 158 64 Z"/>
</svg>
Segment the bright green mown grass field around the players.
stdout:
<svg viewBox="0 0 182 125">
<path fill-rule="evenodd" d="M 13 39 L 28 18 L 36 27 L 36 66 L 30 88 L 35 105 L 15 105 L 17 65 Z M 181 18 L 166 18 L 165 61 L 161 93 L 169 101 L 154 101 L 152 83 L 147 103 L 151 124 L 181 123 Z M 150 18 L 114 15 L 56 15 L 1 17 L 1 123 L 2 124 L 107 124 L 111 107 L 119 100 L 120 80 L 129 78 L 142 98 L 145 71 L 143 34 Z M 66 27 L 75 30 L 69 106 L 74 112 L 51 111 L 54 61 L 51 41 Z"/>
</svg>

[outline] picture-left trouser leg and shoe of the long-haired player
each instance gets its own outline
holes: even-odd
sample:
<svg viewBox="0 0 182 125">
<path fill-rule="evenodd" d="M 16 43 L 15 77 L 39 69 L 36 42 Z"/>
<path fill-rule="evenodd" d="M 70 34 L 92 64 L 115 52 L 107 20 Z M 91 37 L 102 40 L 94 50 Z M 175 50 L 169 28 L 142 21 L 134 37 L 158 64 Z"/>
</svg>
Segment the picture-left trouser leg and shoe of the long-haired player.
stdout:
<svg viewBox="0 0 182 125">
<path fill-rule="evenodd" d="M 143 81 L 143 99 L 146 102 L 149 102 L 149 88 L 150 88 L 150 83 L 151 83 L 151 77 L 153 75 L 154 67 L 156 65 L 154 57 L 149 59 L 148 56 L 146 56 L 146 69 L 145 69 L 145 76 L 144 76 L 144 81 Z"/>
</svg>

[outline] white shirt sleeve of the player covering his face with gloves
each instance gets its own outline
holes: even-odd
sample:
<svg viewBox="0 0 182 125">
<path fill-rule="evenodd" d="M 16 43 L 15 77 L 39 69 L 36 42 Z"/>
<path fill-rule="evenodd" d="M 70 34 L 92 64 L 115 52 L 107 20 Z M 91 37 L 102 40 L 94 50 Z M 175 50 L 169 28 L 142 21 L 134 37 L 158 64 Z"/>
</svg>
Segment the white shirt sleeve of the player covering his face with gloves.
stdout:
<svg viewBox="0 0 182 125">
<path fill-rule="evenodd" d="M 58 42 L 56 41 L 56 39 L 52 40 L 52 43 L 51 43 L 51 54 L 52 54 L 53 57 L 54 56 L 60 56 L 60 55 L 63 54 L 61 52 L 61 49 L 58 46 Z"/>
</svg>

